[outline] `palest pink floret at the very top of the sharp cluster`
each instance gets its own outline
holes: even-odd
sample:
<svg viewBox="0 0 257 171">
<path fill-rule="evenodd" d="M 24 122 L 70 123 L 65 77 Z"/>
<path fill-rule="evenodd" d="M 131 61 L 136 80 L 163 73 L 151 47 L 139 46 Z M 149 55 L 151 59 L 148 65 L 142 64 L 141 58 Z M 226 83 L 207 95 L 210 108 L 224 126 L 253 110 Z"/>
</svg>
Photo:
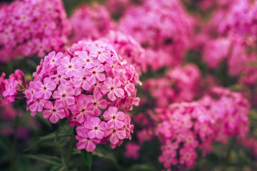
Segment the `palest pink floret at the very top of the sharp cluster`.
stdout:
<svg viewBox="0 0 257 171">
<path fill-rule="evenodd" d="M 99 47 L 97 45 L 92 45 L 89 47 L 89 56 L 97 58 L 100 62 L 105 62 L 106 59 L 111 58 L 111 54 L 104 47 Z"/>
</svg>

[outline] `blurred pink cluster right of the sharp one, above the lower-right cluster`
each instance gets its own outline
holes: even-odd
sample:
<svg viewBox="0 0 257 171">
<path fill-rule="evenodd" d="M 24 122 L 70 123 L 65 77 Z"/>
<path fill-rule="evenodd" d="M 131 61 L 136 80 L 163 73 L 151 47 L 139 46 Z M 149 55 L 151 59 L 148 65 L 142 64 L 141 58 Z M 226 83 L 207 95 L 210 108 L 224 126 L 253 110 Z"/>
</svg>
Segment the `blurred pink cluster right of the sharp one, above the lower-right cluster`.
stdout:
<svg viewBox="0 0 257 171">
<path fill-rule="evenodd" d="M 168 70 L 164 77 L 148 79 L 143 87 L 150 91 L 158 107 L 166 107 L 172 102 L 193 100 L 198 95 L 200 79 L 199 69 L 187 64 Z"/>
</svg>

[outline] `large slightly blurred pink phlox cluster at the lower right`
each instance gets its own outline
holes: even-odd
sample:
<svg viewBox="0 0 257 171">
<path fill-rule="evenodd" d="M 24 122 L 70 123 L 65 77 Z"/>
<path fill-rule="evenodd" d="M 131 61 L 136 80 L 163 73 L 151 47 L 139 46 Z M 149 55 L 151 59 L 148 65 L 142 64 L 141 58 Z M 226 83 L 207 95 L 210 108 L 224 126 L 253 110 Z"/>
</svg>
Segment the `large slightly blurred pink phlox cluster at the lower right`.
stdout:
<svg viewBox="0 0 257 171">
<path fill-rule="evenodd" d="M 159 161 L 165 168 L 190 168 L 196 164 L 196 149 L 206 155 L 213 142 L 226 143 L 229 137 L 244 137 L 249 127 L 249 107 L 242 94 L 214 87 L 199 101 L 156 108 L 155 134 L 162 143 Z"/>
</svg>

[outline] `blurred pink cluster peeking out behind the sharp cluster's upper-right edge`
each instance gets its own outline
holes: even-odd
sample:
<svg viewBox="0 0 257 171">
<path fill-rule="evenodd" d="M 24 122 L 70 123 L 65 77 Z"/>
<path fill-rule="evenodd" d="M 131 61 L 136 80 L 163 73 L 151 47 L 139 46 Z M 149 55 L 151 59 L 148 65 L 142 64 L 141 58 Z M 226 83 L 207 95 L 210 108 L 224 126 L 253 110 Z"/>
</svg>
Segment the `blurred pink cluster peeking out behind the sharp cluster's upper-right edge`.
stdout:
<svg viewBox="0 0 257 171">
<path fill-rule="evenodd" d="M 144 49 L 134 38 L 119 31 L 110 31 L 104 38 L 112 44 L 117 53 L 140 74 L 146 72 L 146 55 Z"/>
</svg>

